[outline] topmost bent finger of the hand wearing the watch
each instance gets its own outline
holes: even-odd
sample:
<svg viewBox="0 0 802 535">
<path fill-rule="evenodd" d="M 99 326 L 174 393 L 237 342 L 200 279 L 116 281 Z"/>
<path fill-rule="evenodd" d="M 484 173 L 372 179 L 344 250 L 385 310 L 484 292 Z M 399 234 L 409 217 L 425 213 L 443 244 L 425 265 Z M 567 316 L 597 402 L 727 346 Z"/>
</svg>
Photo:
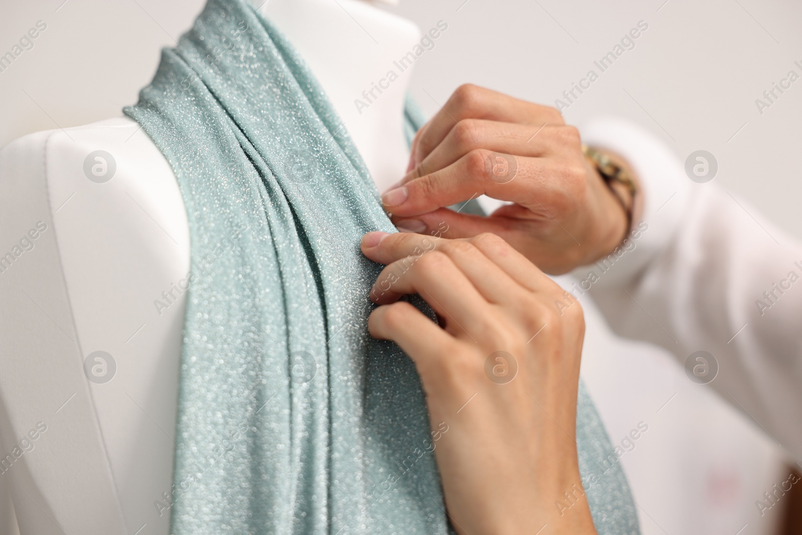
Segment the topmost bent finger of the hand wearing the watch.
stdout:
<svg viewBox="0 0 802 535">
<path fill-rule="evenodd" d="M 528 124 L 537 128 L 545 123 L 564 124 L 561 113 L 553 107 L 541 106 L 484 87 L 465 84 L 454 91 L 448 102 L 431 118 L 425 132 L 413 144 L 415 165 L 444 140 L 455 124 L 464 119 Z"/>
</svg>

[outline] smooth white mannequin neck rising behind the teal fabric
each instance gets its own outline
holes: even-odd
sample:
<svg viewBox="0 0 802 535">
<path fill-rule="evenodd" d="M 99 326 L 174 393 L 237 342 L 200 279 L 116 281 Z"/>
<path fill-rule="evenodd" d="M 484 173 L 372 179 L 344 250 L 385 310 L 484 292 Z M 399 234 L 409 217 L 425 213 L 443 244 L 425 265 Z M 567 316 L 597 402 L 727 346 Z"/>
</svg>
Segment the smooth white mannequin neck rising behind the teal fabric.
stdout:
<svg viewBox="0 0 802 535">
<path fill-rule="evenodd" d="M 394 62 L 420 39 L 418 28 L 360 0 L 268 0 L 261 13 L 326 91 L 379 191 L 400 180 L 408 158 L 403 107 L 412 70 L 402 72 Z"/>
</svg>

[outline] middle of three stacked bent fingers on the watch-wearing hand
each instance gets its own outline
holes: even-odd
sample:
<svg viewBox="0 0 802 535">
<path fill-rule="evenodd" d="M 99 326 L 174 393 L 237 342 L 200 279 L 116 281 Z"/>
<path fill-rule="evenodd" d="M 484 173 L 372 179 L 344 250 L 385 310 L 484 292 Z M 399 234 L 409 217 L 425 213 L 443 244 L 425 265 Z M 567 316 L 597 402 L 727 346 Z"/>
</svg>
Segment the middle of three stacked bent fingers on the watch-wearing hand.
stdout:
<svg viewBox="0 0 802 535">
<path fill-rule="evenodd" d="M 545 124 L 533 130 L 523 124 L 461 120 L 415 168 L 407 169 L 399 184 L 448 167 L 476 148 L 516 156 L 568 157 L 581 149 L 581 140 L 573 126 Z"/>
</svg>

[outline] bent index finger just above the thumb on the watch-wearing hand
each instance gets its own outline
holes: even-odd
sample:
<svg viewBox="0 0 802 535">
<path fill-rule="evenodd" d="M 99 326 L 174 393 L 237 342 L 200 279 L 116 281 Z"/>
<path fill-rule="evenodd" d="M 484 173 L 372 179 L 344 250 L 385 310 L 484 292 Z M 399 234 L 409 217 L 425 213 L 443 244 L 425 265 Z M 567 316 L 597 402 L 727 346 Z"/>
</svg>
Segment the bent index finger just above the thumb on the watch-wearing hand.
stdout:
<svg viewBox="0 0 802 535">
<path fill-rule="evenodd" d="M 583 195 L 587 168 L 580 160 L 529 158 L 475 149 L 439 171 L 410 180 L 382 196 L 387 212 L 415 216 L 488 195 L 537 210 Z M 537 192 L 537 201 L 533 197 Z"/>
</svg>

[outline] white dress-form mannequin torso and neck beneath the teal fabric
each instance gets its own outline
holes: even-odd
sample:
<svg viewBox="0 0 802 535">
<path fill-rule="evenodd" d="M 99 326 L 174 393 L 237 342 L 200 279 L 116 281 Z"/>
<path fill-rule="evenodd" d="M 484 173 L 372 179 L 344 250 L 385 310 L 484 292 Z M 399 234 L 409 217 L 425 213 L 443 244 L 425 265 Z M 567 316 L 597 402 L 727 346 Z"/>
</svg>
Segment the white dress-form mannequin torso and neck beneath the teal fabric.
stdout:
<svg viewBox="0 0 802 535">
<path fill-rule="evenodd" d="M 261 12 L 306 59 L 379 190 L 399 180 L 408 157 L 403 104 L 411 69 L 399 73 L 367 109 L 354 106 L 354 99 L 415 46 L 419 30 L 361 0 L 269 0 Z M 107 155 L 91 155 L 95 151 Z M 154 501 L 172 485 L 187 296 L 177 287 L 190 270 L 188 222 L 176 178 L 156 145 L 128 117 L 21 138 L 0 152 L 0 173 L 3 180 L 21 183 L 43 174 L 37 180 L 44 179 L 50 205 L 44 218 L 38 214 L 29 222 L 26 214 L 0 221 L 2 243 L 18 241 L 18 229 L 24 236 L 31 223 L 49 219 L 47 229 L 34 228 L 40 229 L 39 239 L 51 233 L 47 239 L 57 241 L 58 253 L 50 258 L 51 275 L 26 267 L 34 259 L 24 256 L 4 268 L 4 295 L 22 288 L 27 298 L 19 294 L 18 305 L 27 317 L 38 319 L 34 324 L 6 321 L 15 314 L 6 301 L 0 305 L 5 308 L 2 339 L 17 336 L 20 329 L 28 330 L 30 338 L 47 330 L 48 336 L 66 335 L 59 343 L 80 355 L 62 362 L 59 351 L 45 342 L 36 349 L 18 343 L 23 355 L 47 354 L 63 371 L 39 366 L 38 376 L 26 384 L 27 396 L 15 388 L 31 378 L 12 373 L 0 379 L 3 455 L 39 420 L 49 426 L 22 462 L 8 463 L 7 473 L 0 475 L 12 482 L 20 531 L 90 533 L 86 526 L 95 532 L 103 525 L 103 533 L 166 534 L 169 511 L 160 512 Z M 13 197 L 0 195 L 0 212 Z M 52 275 L 59 271 L 59 260 L 71 318 L 55 313 L 47 302 L 48 285 L 59 279 Z M 168 307 L 154 306 L 155 300 Z M 83 363 L 92 354 L 89 364 Z M 53 407 L 42 404 L 47 400 Z M 41 407 L 31 409 L 36 403 Z M 82 440 L 87 444 L 81 445 Z M 87 483 L 92 487 L 87 495 L 97 492 L 102 503 L 87 497 L 75 503 L 69 476 L 53 476 L 67 462 L 94 467 L 100 484 Z"/>
</svg>

